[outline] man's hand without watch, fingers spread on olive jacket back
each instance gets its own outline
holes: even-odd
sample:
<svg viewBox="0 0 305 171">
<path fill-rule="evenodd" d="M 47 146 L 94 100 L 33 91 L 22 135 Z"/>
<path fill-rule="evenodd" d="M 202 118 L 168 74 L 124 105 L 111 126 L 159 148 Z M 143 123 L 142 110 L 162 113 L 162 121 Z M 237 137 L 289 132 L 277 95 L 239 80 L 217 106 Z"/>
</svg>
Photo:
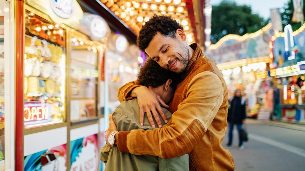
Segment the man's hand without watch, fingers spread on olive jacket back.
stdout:
<svg viewBox="0 0 305 171">
<path fill-rule="evenodd" d="M 167 104 L 164 103 L 164 101 L 161 99 L 160 96 L 158 96 L 155 92 L 148 89 L 145 86 L 137 87 L 131 92 L 131 96 L 138 98 L 138 104 L 140 107 L 140 124 L 143 126 L 144 123 L 144 113 L 146 112 L 149 123 L 152 127 L 156 127 L 154 124 L 154 121 L 152 119 L 155 118 L 158 127 L 162 127 L 162 123 L 160 121 L 158 112 L 160 113 L 164 123 L 167 123 L 167 117 L 164 114 L 164 111 L 162 110 L 160 103 L 163 107 L 168 108 Z M 158 110 L 158 112 L 156 111 Z M 151 113 L 152 112 L 152 113 Z"/>
</svg>

